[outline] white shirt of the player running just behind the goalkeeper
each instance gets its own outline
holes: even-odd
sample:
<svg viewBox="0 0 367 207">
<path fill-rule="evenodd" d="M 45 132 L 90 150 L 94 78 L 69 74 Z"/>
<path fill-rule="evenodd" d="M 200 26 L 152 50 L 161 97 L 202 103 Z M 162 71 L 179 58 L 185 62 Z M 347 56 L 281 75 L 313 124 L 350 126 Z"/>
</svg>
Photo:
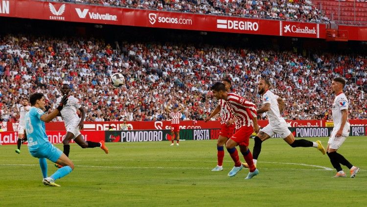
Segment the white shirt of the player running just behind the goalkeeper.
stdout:
<svg viewBox="0 0 367 207">
<path fill-rule="evenodd" d="M 62 97 L 59 97 L 56 100 L 56 106 L 59 105 L 61 98 Z M 64 119 L 65 126 L 79 122 L 79 116 L 76 114 L 76 110 L 81 107 L 81 105 L 79 104 L 79 100 L 76 99 L 74 96 L 70 95 L 68 99 L 69 100 L 67 104 L 61 110 L 61 117 L 63 117 Z"/>
</svg>

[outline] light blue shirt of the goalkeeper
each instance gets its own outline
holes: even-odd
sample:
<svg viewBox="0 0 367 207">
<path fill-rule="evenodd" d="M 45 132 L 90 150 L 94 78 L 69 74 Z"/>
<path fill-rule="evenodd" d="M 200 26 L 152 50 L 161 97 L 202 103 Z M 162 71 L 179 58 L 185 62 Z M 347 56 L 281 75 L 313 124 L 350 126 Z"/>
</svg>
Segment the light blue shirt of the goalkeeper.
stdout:
<svg viewBox="0 0 367 207">
<path fill-rule="evenodd" d="M 38 150 L 48 142 L 45 122 L 41 120 L 41 116 L 44 114 L 42 109 L 36 107 L 31 107 L 29 112 L 25 114 L 25 131 L 30 151 Z"/>
</svg>

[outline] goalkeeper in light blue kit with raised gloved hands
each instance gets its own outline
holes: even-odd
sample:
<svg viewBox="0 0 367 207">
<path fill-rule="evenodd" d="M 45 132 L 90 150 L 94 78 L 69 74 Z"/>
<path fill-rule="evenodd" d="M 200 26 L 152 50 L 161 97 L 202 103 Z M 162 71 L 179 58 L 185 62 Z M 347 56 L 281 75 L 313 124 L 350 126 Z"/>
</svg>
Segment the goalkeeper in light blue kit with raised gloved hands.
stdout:
<svg viewBox="0 0 367 207">
<path fill-rule="evenodd" d="M 39 158 L 40 167 L 43 175 L 42 183 L 50 186 L 58 186 L 55 184 L 55 180 L 60 179 L 68 175 L 73 169 L 74 164 L 70 159 L 58 148 L 52 145 L 47 138 L 45 122 L 51 121 L 62 110 L 63 106 L 67 103 L 68 98 L 66 95 L 60 101 L 59 106 L 53 110 L 50 114 L 45 114 L 45 96 L 42 93 L 33 93 L 29 102 L 31 108 L 25 115 L 25 135 L 28 139 L 29 153 Z M 50 177 L 47 176 L 47 162 L 46 159 L 60 164 L 64 167 L 58 169 Z"/>
</svg>

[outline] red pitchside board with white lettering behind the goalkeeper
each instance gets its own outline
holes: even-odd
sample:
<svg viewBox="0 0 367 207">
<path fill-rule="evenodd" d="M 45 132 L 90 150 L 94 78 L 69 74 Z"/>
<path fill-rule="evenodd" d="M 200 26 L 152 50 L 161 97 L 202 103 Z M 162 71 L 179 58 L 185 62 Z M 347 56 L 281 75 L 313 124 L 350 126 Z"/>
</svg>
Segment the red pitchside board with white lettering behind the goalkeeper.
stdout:
<svg viewBox="0 0 367 207">
<path fill-rule="evenodd" d="M 91 132 L 81 131 L 84 140 L 86 141 L 100 141 L 104 140 L 105 132 Z M 62 143 L 63 138 L 66 135 L 66 131 L 46 131 L 48 140 L 51 143 Z M 0 133 L 0 144 L 17 144 L 18 133 L 17 132 L 1 132 Z M 71 140 L 71 142 L 74 142 Z"/>
</svg>

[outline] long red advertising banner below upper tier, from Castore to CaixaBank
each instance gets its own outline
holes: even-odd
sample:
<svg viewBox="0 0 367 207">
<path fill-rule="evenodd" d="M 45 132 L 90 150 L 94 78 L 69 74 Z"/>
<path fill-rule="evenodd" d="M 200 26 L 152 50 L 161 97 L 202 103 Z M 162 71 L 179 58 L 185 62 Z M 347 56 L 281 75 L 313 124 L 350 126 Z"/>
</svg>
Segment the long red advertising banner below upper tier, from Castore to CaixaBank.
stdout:
<svg viewBox="0 0 367 207">
<path fill-rule="evenodd" d="M 325 24 L 37 0 L 0 0 L 0 16 L 53 21 L 325 38 Z"/>
</svg>

